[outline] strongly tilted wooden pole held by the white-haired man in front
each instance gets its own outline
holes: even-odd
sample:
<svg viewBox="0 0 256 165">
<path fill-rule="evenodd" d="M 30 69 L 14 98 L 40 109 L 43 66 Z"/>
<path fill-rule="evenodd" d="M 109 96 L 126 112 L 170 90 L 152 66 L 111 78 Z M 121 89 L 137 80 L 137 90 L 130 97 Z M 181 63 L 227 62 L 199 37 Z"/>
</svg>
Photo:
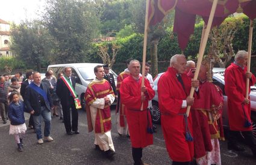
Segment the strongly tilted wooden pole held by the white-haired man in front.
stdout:
<svg viewBox="0 0 256 165">
<path fill-rule="evenodd" d="M 193 78 L 194 80 L 198 79 L 198 74 L 199 74 L 199 70 L 200 70 L 200 67 L 201 67 L 201 64 L 202 64 L 202 58 L 204 56 L 204 51 L 205 51 L 205 47 L 206 47 L 206 44 L 207 44 L 207 40 L 208 40 L 208 37 L 209 37 L 209 34 L 210 34 L 211 24 L 213 23 L 213 17 L 214 17 L 215 11 L 216 11 L 217 2 L 218 2 L 218 0 L 214 0 L 213 1 L 213 6 L 211 7 L 210 17 L 208 19 L 204 39 L 202 40 L 202 44 L 201 44 L 202 47 L 199 50 L 198 62 L 196 64 L 196 71 L 195 71 L 195 75 L 194 75 L 194 78 Z M 190 90 L 190 94 L 189 94 L 190 98 L 193 98 L 194 91 L 195 91 L 195 88 L 192 87 L 191 90 Z M 189 116 L 190 107 L 191 106 L 187 106 L 187 112 L 186 112 L 187 116 Z"/>
</svg>

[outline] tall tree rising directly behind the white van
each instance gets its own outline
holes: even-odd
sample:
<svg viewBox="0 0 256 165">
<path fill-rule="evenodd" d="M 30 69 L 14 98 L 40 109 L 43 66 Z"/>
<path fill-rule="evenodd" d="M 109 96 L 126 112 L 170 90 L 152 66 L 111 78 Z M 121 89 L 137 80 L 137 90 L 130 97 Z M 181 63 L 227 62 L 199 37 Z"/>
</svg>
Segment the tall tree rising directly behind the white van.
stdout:
<svg viewBox="0 0 256 165">
<path fill-rule="evenodd" d="M 98 10 L 92 1 L 47 1 L 43 16 L 54 40 L 52 63 L 85 62 L 99 35 Z"/>
</svg>

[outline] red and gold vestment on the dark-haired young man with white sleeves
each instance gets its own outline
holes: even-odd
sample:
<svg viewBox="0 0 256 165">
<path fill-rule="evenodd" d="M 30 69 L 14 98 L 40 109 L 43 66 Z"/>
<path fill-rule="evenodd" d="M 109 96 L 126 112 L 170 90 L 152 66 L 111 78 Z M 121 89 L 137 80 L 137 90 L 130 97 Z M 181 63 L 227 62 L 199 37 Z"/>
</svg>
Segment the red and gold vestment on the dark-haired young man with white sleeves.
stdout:
<svg viewBox="0 0 256 165">
<path fill-rule="evenodd" d="M 107 95 L 114 96 L 110 83 L 102 79 L 101 82 L 91 82 L 86 89 L 86 104 L 90 106 L 96 98 L 104 98 Z M 95 133 L 105 133 L 111 130 L 111 112 L 110 106 L 105 103 L 104 109 L 98 109 L 95 120 Z"/>
</svg>

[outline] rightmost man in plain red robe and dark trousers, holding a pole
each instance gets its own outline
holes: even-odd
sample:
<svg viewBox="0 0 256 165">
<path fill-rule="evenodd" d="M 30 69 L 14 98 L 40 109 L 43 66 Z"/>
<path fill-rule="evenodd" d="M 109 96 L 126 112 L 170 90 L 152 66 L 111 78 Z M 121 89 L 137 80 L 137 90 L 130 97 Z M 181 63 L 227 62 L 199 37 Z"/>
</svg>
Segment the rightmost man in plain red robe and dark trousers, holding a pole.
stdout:
<svg viewBox="0 0 256 165">
<path fill-rule="evenodd" d="M 250 86 L 255 84 L 255 76 L 246 71 L 248 53 L 240 50 L 235 56 L 235 61 L 225 71 L 225 92 L 228 97 L 228 123 L 229 141 L 228 149 L 244 151 L 237 144 L 237 136 L 242 131 L 245 141 L 256 157 L 256 140 L 252 136 L 251 104 L 250 98 L 246 98 L 246 78 L 249 78 Z"/>
</svg>

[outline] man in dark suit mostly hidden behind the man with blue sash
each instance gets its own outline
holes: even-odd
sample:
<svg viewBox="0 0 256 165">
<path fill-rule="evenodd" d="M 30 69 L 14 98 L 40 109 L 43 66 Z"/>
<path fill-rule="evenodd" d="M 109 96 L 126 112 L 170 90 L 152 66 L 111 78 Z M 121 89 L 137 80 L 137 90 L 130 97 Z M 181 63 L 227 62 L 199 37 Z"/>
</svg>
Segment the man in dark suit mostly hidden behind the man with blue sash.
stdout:
<svg viewBox="0 0 256 165">
<path fill-rule="evenodd" d="M 22 96 L 23 100 L 25 99 L 25 89 L 30 83 L 33 82 L 33 71 L 26 72 L 26 80 L 21 83 L 20 86 L 20 95 Z M 34 128 L 33 116 L 30 115 L 30 120 L 28 121 L 28 127 Z"/>
</svg>

